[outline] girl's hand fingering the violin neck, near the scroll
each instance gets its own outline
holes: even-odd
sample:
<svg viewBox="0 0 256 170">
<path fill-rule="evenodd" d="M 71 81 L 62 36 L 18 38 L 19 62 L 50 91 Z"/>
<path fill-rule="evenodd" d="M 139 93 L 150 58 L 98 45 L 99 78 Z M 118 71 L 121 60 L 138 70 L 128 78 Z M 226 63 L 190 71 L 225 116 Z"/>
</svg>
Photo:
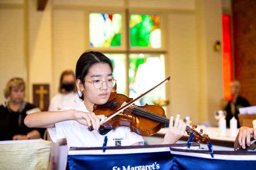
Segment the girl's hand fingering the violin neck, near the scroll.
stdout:
<svg viewBox="0 0 256 170">
<path fill-rule="evenodd" d="M 175 122 L 173 124 L 174 117 L 171 116 L 169 122 L 169 128 L 165 134 L 162 144 L 175 144 L 180 137 L 183 137 L 187 125 L 180 119 L 180 115 L 176 115 Z"/>
</svg>

